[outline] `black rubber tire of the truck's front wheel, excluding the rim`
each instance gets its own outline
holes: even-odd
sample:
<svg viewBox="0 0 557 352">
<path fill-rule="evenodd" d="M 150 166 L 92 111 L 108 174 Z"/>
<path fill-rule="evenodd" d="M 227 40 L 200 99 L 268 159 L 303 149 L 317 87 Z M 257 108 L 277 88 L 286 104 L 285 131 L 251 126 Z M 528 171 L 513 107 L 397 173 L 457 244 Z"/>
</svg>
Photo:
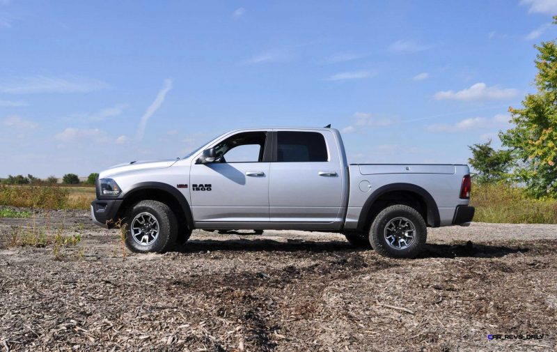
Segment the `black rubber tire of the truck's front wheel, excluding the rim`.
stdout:
<svg viewBox="0 0 557 352">
<path fill-rule="evenodd" d="M 140 213 L 148 213 L 155 217 L 159 224 L 159 234 L 153 243 L 149 245 L 141 245 L 134 240 L 132 237 L 132 221 L 136 215 Z M 176 222 L 176 217 L 166 204 L 160 201 L 139 201 L 134 204 L 126 214 L 126 246 L 132 252 L 147 253 L 147 252 L 157 252 L 162 253 L 171 249 L 176 243 L 176 237 L 178 235 L 178 224 Z"/>
</svg>

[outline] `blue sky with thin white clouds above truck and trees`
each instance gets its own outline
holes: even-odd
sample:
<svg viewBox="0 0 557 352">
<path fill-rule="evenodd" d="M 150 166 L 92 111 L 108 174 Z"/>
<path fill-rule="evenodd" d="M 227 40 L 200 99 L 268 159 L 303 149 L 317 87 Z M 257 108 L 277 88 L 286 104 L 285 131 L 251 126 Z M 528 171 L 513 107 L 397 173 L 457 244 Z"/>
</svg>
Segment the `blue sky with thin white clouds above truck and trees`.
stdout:
<svg viewBox="0 0 557 352">
<path fill-rule="evenodd" d="M 557 0 L 0 0 L 0 177 L 175 158 L 233 128 L 464 163 L 533 92 Z"/>
</svg>

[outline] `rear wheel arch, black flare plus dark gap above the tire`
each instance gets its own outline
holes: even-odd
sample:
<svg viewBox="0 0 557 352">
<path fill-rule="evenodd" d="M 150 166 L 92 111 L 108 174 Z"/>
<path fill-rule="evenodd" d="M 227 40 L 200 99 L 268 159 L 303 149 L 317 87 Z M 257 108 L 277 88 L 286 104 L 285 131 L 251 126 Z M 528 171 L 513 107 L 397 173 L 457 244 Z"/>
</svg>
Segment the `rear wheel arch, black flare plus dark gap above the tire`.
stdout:
<svg viewBox="0 0 557 352">
<path fill-rule="evenodd" d="M 400 201 L 400 203 L 396 203 L 397 201 Z M 358 230 L 367 231 L 373 217 L 386 206 L 392 204 L 417 206 L 416 211 L 422 215 L 427 225 L 439 227 L 441 224 L 437 203 L 427 190 L 411 183 L 391 183 L 377 188 L 370 194 L 361 209 L 358 218 Z"/>
</svg>

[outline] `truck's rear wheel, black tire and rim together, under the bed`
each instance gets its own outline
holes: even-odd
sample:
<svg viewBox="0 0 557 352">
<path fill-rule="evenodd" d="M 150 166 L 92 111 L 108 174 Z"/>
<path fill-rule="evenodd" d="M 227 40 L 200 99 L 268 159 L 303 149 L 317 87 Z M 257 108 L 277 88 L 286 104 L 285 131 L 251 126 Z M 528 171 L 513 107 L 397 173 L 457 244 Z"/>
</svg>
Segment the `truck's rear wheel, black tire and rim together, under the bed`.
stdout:
<svg viewBox="0 0 557 352">
<path fill-rule="evenodd" d="M 415 258 L 425 245 L 427 227 L 416 209 L 398 204 L 377 214 L 369 238 L 379 254 L 391 258 Z"/>
</svg>

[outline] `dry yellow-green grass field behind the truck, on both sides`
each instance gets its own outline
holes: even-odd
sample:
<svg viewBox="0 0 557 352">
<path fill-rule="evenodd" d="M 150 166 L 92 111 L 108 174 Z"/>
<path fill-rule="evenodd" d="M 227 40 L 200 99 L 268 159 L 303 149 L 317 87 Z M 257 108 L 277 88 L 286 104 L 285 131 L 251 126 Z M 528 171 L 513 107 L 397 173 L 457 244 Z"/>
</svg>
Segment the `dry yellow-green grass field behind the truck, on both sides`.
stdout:
<svg viewBox="0 0 557 352">
<path fill-rule="evenodd" d="M 0 205 L 5 206 L 87 210 L 93 199 L 93 187 L 0 186 Z M 521 188 L 474 185 L 471 205 L 477 222 L 557 224 L 557 200 L 533 199 Z"/>
</svg>

